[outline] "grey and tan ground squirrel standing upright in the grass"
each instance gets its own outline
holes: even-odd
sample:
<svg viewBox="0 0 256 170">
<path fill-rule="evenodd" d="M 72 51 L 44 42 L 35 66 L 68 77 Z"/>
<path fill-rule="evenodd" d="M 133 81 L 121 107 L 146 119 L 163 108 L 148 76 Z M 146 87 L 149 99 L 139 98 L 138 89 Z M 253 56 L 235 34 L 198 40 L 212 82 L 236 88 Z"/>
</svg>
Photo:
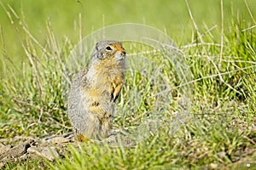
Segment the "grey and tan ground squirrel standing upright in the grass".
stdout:
<svg viewBox="0 0 256 170">
<path fill-rule="evenodd" d="M 96 43 L 89 66 L 73 78 L 68 117 L 75 139 L 106 138 L 112 128 L 114 103 L 125 82 L 125 49 L 121 42 Z"/>
</svg>

